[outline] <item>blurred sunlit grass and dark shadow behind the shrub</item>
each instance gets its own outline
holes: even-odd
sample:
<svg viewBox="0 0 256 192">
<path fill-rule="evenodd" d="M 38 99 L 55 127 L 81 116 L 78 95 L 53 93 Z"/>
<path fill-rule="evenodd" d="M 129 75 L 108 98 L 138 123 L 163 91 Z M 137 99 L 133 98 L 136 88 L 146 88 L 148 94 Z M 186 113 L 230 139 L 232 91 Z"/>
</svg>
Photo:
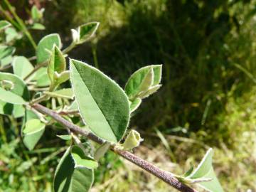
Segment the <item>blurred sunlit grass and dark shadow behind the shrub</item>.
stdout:
<svg viewBox="0 0 256 192">
<path fill-rule="evenodd" d="M 59 33 L 64 48 L 72 41 L 70 28 L 100 21 L 93 41 L 69 56 L 122 87 L 142 66 L 164 64 L 161 90 L 132 117 L 130 127 L 145 139 L 134 153 L 182 174 L 213 147 L 224 191 L 256 191 L 256 1 L 10 2 L 24 20 L 33 5 L 44 8 L 46 30 L 33 31 L 33 37 L 38 42 Z M 16 54 L 34 55 L 28 42 L 16 46 Z M 63 142 L 49 129 L 29 152 L 19 137 L 21 123 L 8 121 L 0 116 L 0 191 L 51 191 Z M 175 190 L 110 152 L 92 191 Z"/>
</svg>

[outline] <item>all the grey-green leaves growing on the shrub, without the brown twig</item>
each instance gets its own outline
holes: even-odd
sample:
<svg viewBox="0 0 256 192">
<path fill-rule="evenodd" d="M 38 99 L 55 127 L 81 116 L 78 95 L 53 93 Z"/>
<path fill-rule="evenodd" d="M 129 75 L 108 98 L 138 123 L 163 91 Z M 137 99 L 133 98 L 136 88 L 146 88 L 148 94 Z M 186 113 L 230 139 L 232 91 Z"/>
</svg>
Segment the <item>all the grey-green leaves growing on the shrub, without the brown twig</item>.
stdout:
<svg viewBox="0 0 256 192">
<path fill-rule="evenodd" d="M 38 18 L 40 13 L 32 9 L 33 18 Z M 91 22 L 72 29 L 73 42 L 63 50 L 57 33 L 43 37 L 36 46 L 36 65 L 26 57 L 14 55 L 15 48 L 6 46 L 0 50 L 0 55 L 3 55 L 1 63 L 9 58 L 13 68 L 13 73 L 0 73 L 0 114 L 23 117 L 21 134 L 29 150 L 33 150 L 43 136 L 46 125 L 60 127 L 51 117 L 33 109 L 34 104 L 48 100 L 51 100 L 51 104 L 48 102 L 51 110 L 63 114 L 70 122 L 77 114 L 82 119 L 78 124 L 85 125 L 85 129 L 90 129 L 105 141 L 91 154 L 78 135 L 72 132 L 58 135 L 60 139 L 69 141 L 69 147 L 55 171 L 55 191 L 89 191 L 94 180 L 93 170 L 107 149 L 132 150 L 139 146 L 143 140 L 139 132 L 130 130 L 127 133 L 129 119 L 142 99 L 161 87 L 161 65 L 137 70 L 124 90 L 97 68 L 79 60 L 70 59 L 70 70 L 67 70 L 68 51 L 89 41 L 98 26 L 99 23 Z M 0 21 L 0 27 L 6 33 L 11 23 Z M 68 80 L 72 87 L 62 88 L 61 84 Z M 198 182 L 208 191 L 222 191 L 213 171 L 212 155 L 210 149 L 195 171 L 191 169 L 184 176 L 176 177 L 184 183 Z"/>
</svg>

